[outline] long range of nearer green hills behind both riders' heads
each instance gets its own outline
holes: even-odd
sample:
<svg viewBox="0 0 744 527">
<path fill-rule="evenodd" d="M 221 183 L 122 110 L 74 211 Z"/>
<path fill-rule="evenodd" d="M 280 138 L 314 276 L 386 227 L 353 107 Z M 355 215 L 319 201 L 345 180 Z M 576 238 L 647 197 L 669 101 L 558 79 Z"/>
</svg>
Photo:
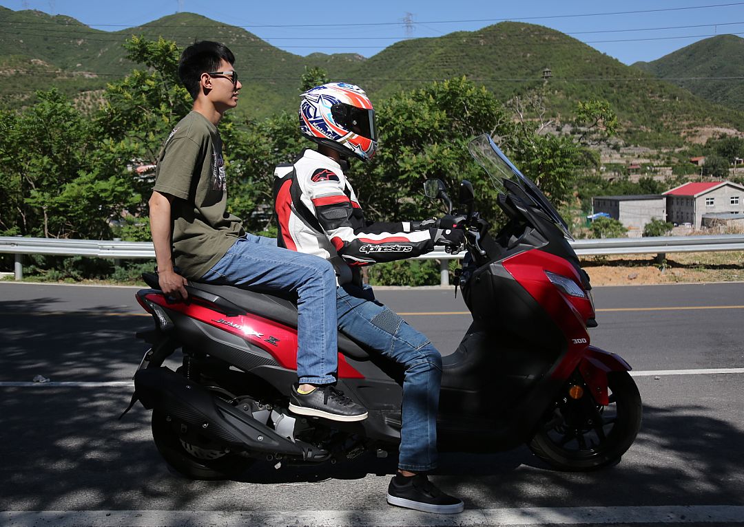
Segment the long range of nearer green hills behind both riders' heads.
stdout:
<svg viewBox="0 0 744 527">
<path fill-rule="evenodd" d="M 606 99 L 620 118 L 623 138 L 637 144 L 679 143 L 682 132 L 698 126 L 744 130 L 740 111 L 623 65 L 556 30 L 517 22 L 397 42 L 369 59 L 354 54 L 298 56 L 242 28 L 192 13 L 109 33 L 66 16 L 0 7 L 0 27 L 5 28 L 0 31 L 0 76 L 8 80 L 0 87 L 4 106 L 31 103 L 34 90 L 51 85 L 94 97 L 96 90 L 131 70 L 121 43 L 141 34 L 162 36 L 180 46 L 195 39 L 225 42 L 237 57 L 235 67 L 243 83 L 237 111 L 251 117 L 295 111 L 304 68 L 318 66 L 332 79 L 361 85 L 373 100 L 401 88 L 465 75 L 500 100 L 539 95 L 543 117 L 558 123 L 571 117 L 578 100 Z M 545 68 L 551 71 L 548 79 L 543 78 Z"/>
</svg>

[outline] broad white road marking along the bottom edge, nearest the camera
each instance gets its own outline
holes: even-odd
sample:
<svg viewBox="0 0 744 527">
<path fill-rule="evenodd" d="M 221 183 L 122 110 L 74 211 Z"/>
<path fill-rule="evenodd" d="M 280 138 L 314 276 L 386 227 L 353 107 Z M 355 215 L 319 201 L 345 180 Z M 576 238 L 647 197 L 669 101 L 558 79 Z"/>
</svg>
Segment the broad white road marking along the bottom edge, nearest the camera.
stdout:
<svg viewBox="0 0 744 527">
<path fill-rule="evenodd" d="M 2 511 L 7 527 L 439 527 L 744 522 L 743 505 L 486 508 L 437 515 L 401 508 L 371 511 Z"/>
</svg>

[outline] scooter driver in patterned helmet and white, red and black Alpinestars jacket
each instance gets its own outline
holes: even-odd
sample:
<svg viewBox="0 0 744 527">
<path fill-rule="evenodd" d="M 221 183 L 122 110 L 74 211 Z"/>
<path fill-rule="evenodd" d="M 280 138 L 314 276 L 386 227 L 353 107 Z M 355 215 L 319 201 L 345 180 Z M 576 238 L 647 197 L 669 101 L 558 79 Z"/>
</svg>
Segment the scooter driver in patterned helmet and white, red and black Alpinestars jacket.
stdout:
<svg viewBox="0 0 744 527">
<path fill-rule="evenodd" d="M 388 502 L 442 514 L 463 510 L 426 478 L 437 465 L 437 408 L 442 358 L 429 339 L 376 301 L 360 270 L 428 253 L 435 245 L 459 246 L 462 230 L 424 222 L 365 221 L 344 174 L 349 158 L 368 161 L 377 148 L 372 103 L 356 85 L 328 83 L 301 95 L 300 129 L 318 144 L 275 170 L 278 244 L 329 260 L 336 269 L 339 329 L 405 369 L 403 427 L 398 473 Z M 302 394 L 292 394 L 301 398 Z"/>
</svg>

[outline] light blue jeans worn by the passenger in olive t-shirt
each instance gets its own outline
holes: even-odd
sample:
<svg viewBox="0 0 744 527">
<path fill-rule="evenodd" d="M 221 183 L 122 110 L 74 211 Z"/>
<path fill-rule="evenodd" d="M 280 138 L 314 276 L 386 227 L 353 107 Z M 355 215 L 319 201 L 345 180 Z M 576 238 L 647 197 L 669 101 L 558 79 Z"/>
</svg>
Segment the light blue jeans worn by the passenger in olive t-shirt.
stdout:
<svg viewBox="0 0 744 527">
<path fill-rule="evenodd" d="M 246 234 L 202 277 L 253 291 L 296 292 L 297 375 L 300 384 L 336 382 L 336 272 L 326 259 L 277 247 L 276 240 Z"/>
</svg>

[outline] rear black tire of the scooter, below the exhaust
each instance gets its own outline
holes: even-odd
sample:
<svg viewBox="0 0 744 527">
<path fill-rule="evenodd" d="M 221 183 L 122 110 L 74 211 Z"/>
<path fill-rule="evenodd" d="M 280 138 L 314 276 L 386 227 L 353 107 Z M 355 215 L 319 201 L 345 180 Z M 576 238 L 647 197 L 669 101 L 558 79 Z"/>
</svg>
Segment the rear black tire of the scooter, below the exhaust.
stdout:
<svg viewBox="0 0 744 527">
<path fill-rule="evenodd" d="M 153 410 L 153 440 L 165 462 L 189 479 L 235 479 L 245 472 L 254 459 L 225 453 L 224 445 L 208 438 L 199 444 L 185 442 L 179 433 L 181 424 Z M 190 439 L 193 441 L 193 439 Z"/>
</svg>

